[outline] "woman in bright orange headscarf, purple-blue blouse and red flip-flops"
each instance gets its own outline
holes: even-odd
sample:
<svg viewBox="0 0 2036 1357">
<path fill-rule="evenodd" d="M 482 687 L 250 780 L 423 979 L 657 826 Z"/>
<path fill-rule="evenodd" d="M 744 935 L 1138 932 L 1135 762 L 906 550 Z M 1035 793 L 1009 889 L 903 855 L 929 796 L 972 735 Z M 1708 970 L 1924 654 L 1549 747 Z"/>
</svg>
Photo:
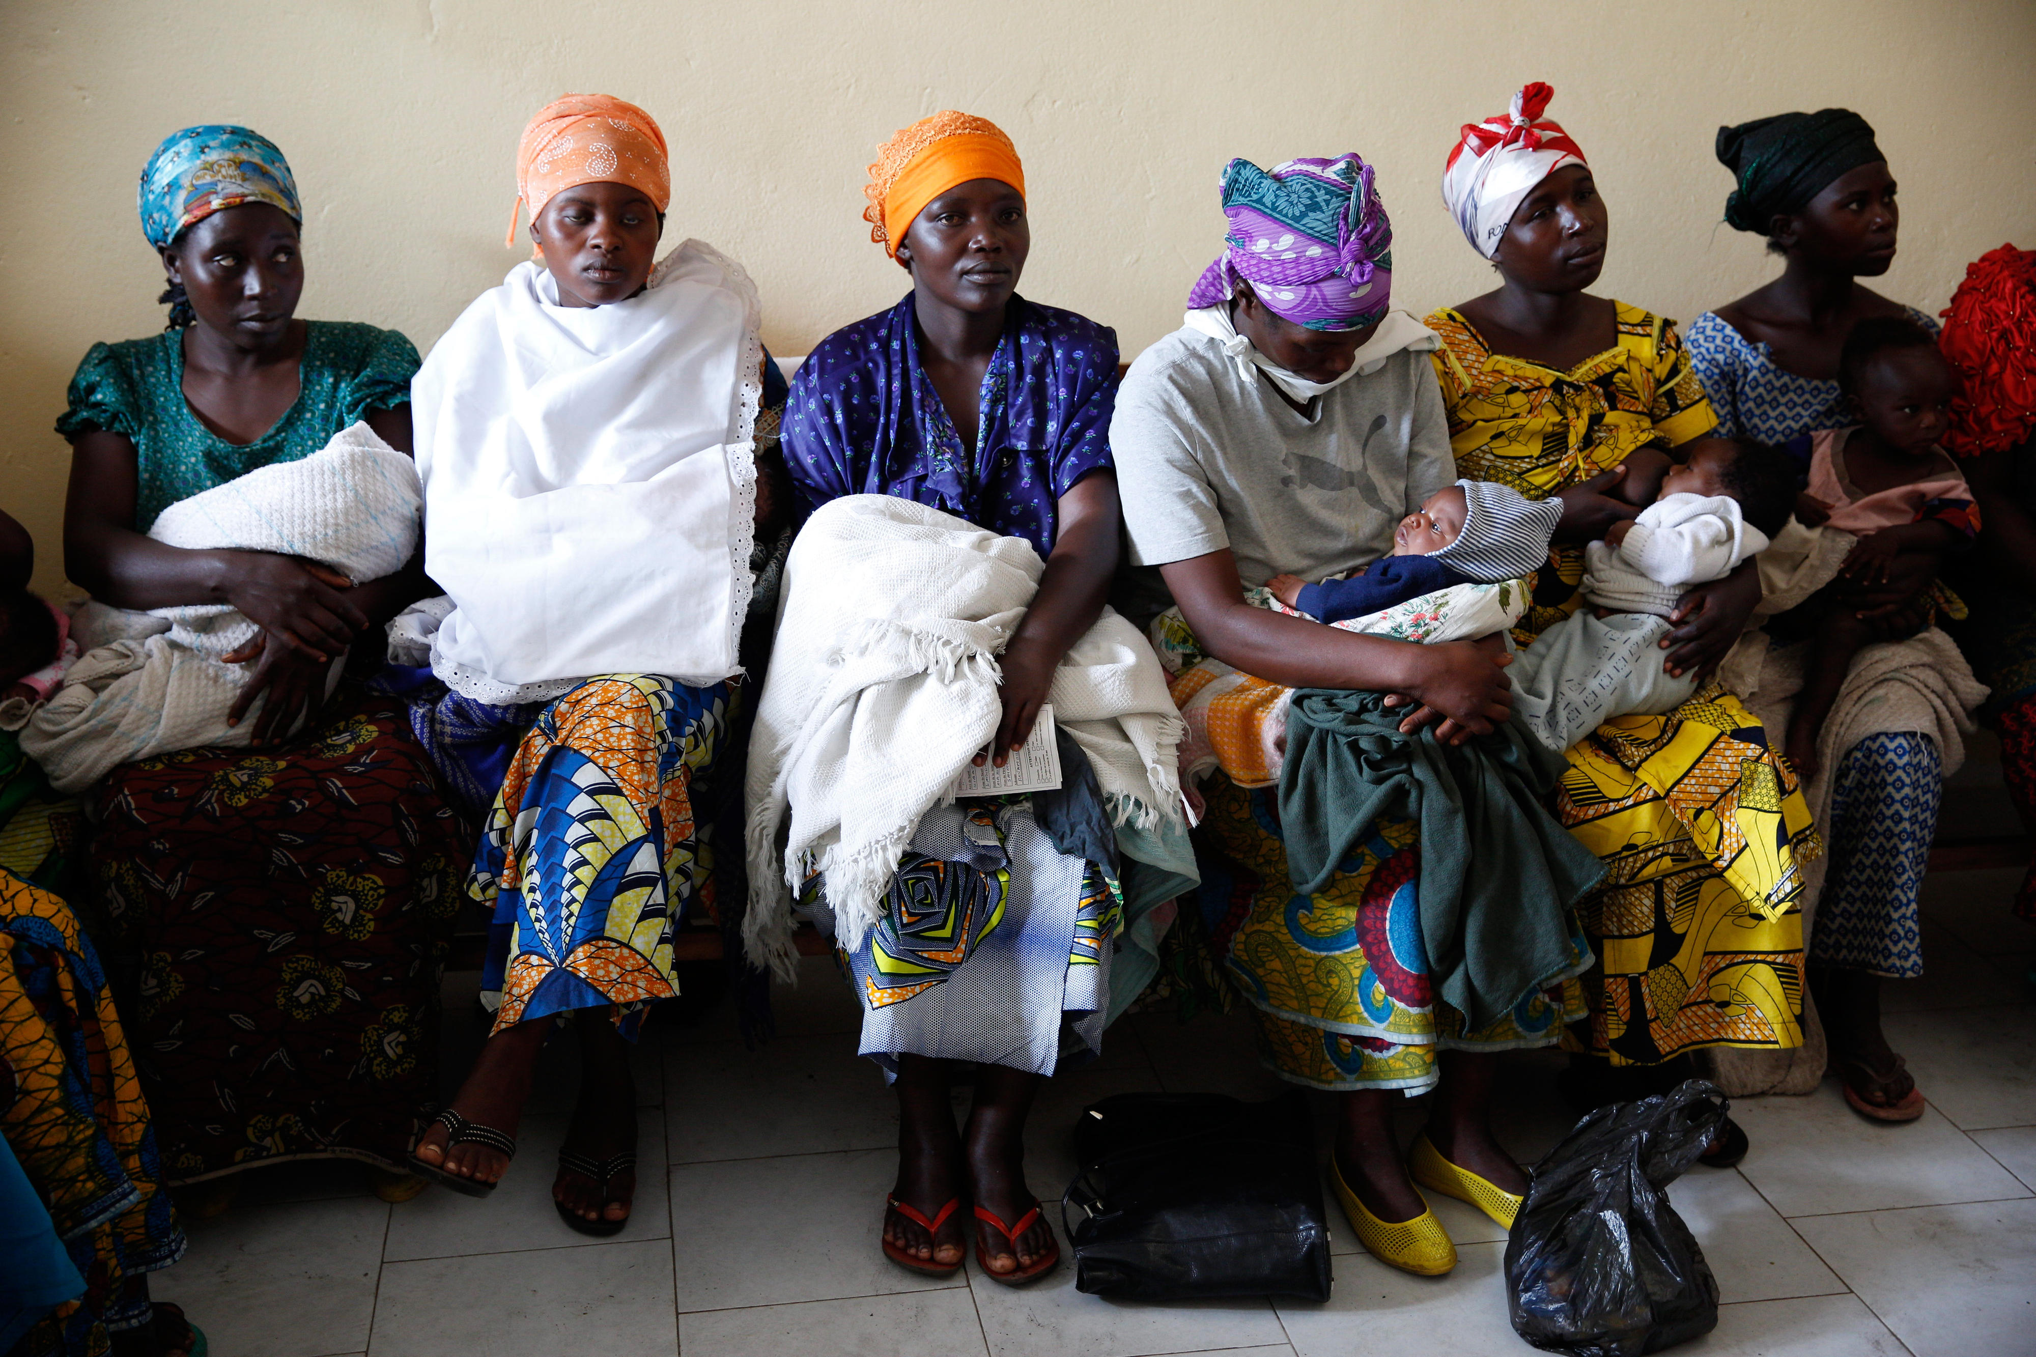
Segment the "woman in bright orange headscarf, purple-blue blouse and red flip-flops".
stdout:
<svg viewBox="0 0 2036 1357">
<path fill-rule="evenodd" d="M 786 463 L 808 513 L 849 495 L 892 495 L 1022 538 L 1044 556 L 1038 591 L 1000 658 L 1002 717 L 992 754 L 1002 766 L 1030 736 L 1069 648 L 1104 613 L 1116 568 L 1116 334 L 1016 293 L 1030 251 L 1024 169 L 992 122 L 941 112 L 900 130 L 878 151 L 865 194 L 871 238 L 912 275 L 912 291 L 825 338 L 798 369 Z M 796 605 L 796 581 L 792 599 Z M 1134 644 L 1136 664 L 1156 685 L 1158 662 L 1142 642 Z M 780 642 L 772 683 L 802 678 L 784 668 L 782 656 Z M 1165 689 L 1152 691 L 1167 705 Z M 1067 742 L 1073 715 L 1061 711 L 1063 786 L 1077 780 L 1065 764 L 1081 758 Z M 1173 717 L 1171 705 L 1165 715 Z M 1140 831 L 1120 815 L 1116 825 L 1099 827 L 1114 848 L 1083 852 L 1063 852 L 1063 837 L 1049 842 L 1036 797 L 1006 809 L 994 801 L 937 807 L 918 821 L 896 868 L 884 927 L 871 927 L 845 958 L 859 978 L 869 972 L 878 939 L 906 927 L 898 890 L 908 890 L 908 874 L 924 874 L 928 862 L 941 872 L 957 860 L 941 860 L 932 837 L 937 821 L 965 807 L 996 821 L 1000 858 L 1028 864 L 1022 874 L 1012 870 L 1002 915 L 939 960 L 937 982 L 896 992 L 857 986 L 865 1002 L 861 1051 L 886 1068 L 898 1090 L 898 1180 L 884 1251 L 904 1267 L 953 1273 L 967 1239 L 957 1208 L 967 1200 L 975 1204 L 977 1263 L 996 1282 L 1022 1282 L 1059 1259 L 1026 1188 L 1024 1123 L 1057 1053 L 1095 1049 L 1112 1017 L 1104 1011 L 1108 990 L 1122 988 L 1116 978 L 1097 984 L 1106 972 L 1095 962 L 1134 964 L 1130 947 L 1110 958 L 1120 927 L 1112 919 L 1118 886 L 1128 915 L 1122 923 L 1136 929 L 1150 905 L 1193 880 L 1193 862 L 1171 805 L 1148 807 L 1156 831 Z M 1104 860 L 1118 852 L 1122 882 L 1116 862 Z M 1144 880 L 1140 860 L 1152 868 Z M 1085 947 L 1077 941 L 1093 945 L 1097 937 L 1101 958 L 1091 956 L 1083 972 Z M 1148 976 L 1140 972 L 1130 988 Z M 1077 984 L 1083 978 L 1087 984 Z M 975 1102 L 957 1135 L 949 1084 L 965 1064 L 975 1064 Z"/>
</svg>

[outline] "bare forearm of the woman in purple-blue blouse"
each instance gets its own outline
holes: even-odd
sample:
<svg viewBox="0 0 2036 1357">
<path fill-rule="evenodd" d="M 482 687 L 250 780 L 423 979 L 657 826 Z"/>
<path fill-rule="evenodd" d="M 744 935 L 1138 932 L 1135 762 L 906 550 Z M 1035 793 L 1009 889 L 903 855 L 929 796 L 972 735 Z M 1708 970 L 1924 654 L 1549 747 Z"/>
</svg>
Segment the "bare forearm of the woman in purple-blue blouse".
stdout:
<svg viewBox="0 0 2036 1357">
<path fill-rule="evenodd" d="M 1118 477 L 1091 471 L 1059 499 L 1059 534 L 1024 619 L 1004 646 L 1004 719 L 989 746 L 1002 768 L 1032 736 L 1032 721 L 1069 646 L 1095 626 L 1118 571 Z M 983 756 L 977 754 L 977 762 Z"/>
</svg>

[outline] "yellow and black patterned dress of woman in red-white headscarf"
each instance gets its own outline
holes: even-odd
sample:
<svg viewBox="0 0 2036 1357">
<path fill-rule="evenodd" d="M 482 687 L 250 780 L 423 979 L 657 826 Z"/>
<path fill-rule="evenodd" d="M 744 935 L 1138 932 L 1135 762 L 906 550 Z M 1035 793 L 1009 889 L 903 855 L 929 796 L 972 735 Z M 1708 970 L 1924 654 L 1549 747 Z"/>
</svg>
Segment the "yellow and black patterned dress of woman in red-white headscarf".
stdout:
<svg viewBox="0 0 2036 1357">
<path fill-rule="evenodd" d="M 1615 346 L 1568 373 L 1492 352 L 1454 310 L 1427 318 L 1458 475 L 1543 499 L 1716 426 L 1676 324 L 1615 306 Z M 1582 575 L 1582 548 L 1549 552 L 1521 644 L 1576 611 Z M 1822 844 L 1737 697 L 1706 685 L 1670 715 L 1606 721 L 1570 750 L 1556 809 L 1608 866 L 1578 909 L 1598 966 L 1566 1045 L 1659 1064 L 1802 1043 L 1800 868 Z"/>
</svg>

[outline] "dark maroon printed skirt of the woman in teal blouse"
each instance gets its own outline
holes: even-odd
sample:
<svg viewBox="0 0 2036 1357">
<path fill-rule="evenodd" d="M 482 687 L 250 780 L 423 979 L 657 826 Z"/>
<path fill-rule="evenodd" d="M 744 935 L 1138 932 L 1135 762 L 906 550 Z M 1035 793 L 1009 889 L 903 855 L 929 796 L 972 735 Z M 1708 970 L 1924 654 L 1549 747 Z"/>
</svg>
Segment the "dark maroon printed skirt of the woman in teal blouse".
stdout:
<svg viewBox="0 0 2036 1357">
<path fill-rule="evenodd" d="M 466 846 L 401 703 L 340 689 L 277 750 L 126 764 L 92 856 L 140 960 L 128 1039 L 171 1182 L 289 1157 L 399 1170 L 438 1110 Z"/>
</svg>

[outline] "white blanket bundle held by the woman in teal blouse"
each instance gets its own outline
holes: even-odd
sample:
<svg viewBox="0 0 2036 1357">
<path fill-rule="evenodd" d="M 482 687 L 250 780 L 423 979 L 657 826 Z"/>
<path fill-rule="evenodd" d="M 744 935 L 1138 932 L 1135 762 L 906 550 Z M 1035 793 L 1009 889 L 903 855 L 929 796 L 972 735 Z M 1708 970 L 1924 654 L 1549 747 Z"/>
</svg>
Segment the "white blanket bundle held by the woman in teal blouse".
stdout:
<svg viewBox="0 0 2036 1357">
<path fill-rule="evenodd" d="M 415 465 L 354 424 L 312 456 L 169 505 L 149 536 L 191 550 L 316 560 L 360 585 L 411 558 L 419 509 Z M 257 630 L 226 603 L 145 613 L 86 603 L 73 621 L 86 654 L 20 731 L 22 750 L 51 786 L 79 793 L 136 758 L 248 744 L 254 721 L 226 723 L 248 670 L 224 656 Z M 328 693 L 340 668 L 334 660 Z"/>
</svg>

